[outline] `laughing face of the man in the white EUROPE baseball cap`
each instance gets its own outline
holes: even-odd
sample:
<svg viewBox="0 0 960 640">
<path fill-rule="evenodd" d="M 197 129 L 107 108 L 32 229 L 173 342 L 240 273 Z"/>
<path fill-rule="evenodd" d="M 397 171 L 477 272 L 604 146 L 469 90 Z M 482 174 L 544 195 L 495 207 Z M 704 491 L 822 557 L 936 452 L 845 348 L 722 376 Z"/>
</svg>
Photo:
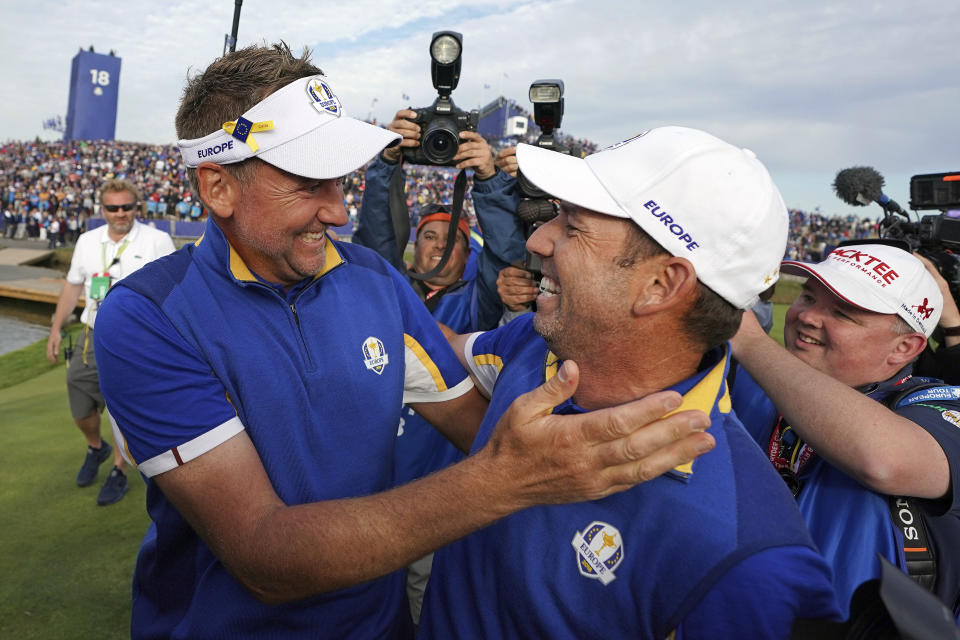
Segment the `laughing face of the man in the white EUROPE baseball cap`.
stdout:
<svg viewBox="0 0 960 640">
<path fill-rule="evenodd" d="M 527 241 L 543 260 L 533 326 L 561 358 L 576 357 L 597 336 L 611 338 L 629 327 L 637 271 L 620 263 L 630 224 L 564 202 L 557 217 Z"/>
</svg>

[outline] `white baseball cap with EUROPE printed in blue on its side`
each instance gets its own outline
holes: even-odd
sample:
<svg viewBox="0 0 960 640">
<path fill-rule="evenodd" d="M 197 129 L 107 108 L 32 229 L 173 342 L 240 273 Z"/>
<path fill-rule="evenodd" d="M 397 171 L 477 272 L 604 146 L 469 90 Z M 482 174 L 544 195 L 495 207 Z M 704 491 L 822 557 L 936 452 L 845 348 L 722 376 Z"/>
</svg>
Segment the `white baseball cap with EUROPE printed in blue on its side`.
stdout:
<svg viewBox="0 0 960 640">
<path fill-rule="evenodd" d="M 517 162 L 550 195 L 633 220 L 737 308 L 752 306 L 777 281 L 787 207 L 752 151 L 671 126 L 586 158 L 521 144 Z"/>
</svg>

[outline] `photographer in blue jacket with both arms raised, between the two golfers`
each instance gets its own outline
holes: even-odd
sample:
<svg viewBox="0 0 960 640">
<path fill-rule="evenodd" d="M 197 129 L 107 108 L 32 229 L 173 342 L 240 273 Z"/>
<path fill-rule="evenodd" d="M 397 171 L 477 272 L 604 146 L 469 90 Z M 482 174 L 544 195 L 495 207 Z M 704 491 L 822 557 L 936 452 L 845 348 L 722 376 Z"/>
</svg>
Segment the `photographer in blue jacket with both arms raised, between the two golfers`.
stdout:
<svg viewBox="0 0 960 640">
<path fill-rule="evenodd" d="M 402 149 L 420 145 L 420 126 L 412 121 L 415 117 L 416 112 L 401 109 L 387 126 L 403 139 L 400 145 L 384 149 L 367 167 L 359 226 L 353 236 L 355 244 L 373 249 L 405 275 L 427 274 L 440 264 L 451 218 L 447 205 L 426 203 L 420 209 L 413 263 L 408 269 L 399 252 L 389 201 L 391 181 L 396 172 L 404 171 Z M 483 230 L 483 248 L 471 252 L 470 227 L 461 217 L 455 245 L 444 268 L 427 280 L 409 275 L 407 279 L 437 322 L 456 333 L 468 333 L 496 326 L 503 310 L 496 291 L 497 273 L 522 258 L 525 249 L 523 231 L 515 215 L 516 180 L 496 167 L 483 136 L 463 131 L 460 137 L 460 147 L 453 160 L 457 169 L 473 169 L 473 203 Z M 398 418 L 393 474 L 396 485 L 442 469 L 462 457 L 456 447 L 412 408 L 401 407 Z M 409 596 L 414 623 L 420 617 L 431 560 L 428 556 L 410 568 Z"/>
</svg>

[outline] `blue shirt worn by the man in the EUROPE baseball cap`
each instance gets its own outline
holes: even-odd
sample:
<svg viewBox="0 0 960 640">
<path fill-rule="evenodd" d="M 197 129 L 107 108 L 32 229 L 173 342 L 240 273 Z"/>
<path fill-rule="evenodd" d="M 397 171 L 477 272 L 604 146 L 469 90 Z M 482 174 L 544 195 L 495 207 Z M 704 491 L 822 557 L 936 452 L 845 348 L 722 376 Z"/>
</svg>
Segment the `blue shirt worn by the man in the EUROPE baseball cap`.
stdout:
<svg viewBox="0 0 960 640">
<path fill-rule="evenodd" d="M 474 334 L 466 355 L 492 393 L 477 450 L 560 363 L 532 314 Z M 836 617 L 830 570 L 731 412 L 728 365 L 717 350 L 673 387 L 681 409 L 710 415 L 713 451 L 602 500 L 525 509 L 439 550 L 420 637 L 786 638 L 796 617 Z"/>
</svg>

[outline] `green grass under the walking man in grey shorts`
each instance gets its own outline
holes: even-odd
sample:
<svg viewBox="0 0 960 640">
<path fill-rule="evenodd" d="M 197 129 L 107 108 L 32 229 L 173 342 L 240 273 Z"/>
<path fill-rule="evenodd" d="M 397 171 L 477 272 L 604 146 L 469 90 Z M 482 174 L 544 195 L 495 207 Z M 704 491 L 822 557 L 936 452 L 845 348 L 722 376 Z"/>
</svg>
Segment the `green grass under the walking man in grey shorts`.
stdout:
<svg viewBox="0 0 960 640">
<path fill-rule="evenodd" d="M 128 638 L 144 484 L 129 471 L 126 497 L 97 506 L 105 463 L 93 485 L 76 486 L 86 447 L 45 342 L 0 357 L 0 380 L 42 371 L 0 390 L 0 638 Z"/>
</svg>

